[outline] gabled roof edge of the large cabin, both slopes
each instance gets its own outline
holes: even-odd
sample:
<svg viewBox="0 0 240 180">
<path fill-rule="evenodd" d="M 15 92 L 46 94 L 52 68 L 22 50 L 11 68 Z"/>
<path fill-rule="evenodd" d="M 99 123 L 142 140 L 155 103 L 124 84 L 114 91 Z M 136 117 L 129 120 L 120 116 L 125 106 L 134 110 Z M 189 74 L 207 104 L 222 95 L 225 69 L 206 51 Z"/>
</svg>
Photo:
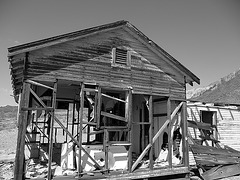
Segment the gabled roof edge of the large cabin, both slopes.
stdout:
<svg viewBox="0 0 240 180">
<path fill-rule="evenodd" d="M 11 58 L 12 56 L 30 52 L 33 50 L 37 50 L 40 48 L 56 45 L 59 43 L 64 43 L 72 40 L 76 40 L 85 36 L 90 36 L 93 34 L 106 32 L 109 30 L 113 30 L 115 28 L 124 28 L 129 33 L 137 37 L 141 40 L 141 42 L 146 45 L 151 51 L 153 51 L 155 54 L 161 56 L 162 58 L 166 59 L 168 63 L 175 69 L 177 69 L 179 72 L 183 74 L 183 76 L 186 77 L 186 82 L 189 84 L 192 84 L 193 82 L 200 83 L 200 79 L 194 75 L 190 70 L 188 70 L 185 66 L 183 66 L 180 62 L 178 62 L 175 58 L 173 58 L 170 54 L 168 54 L 166 51 L 164 51 L 161 47 L 159 47 L 156 43 L 154 43 L 152 40 L 150 40 L 147 36 L 145 36 L 141 31 L 139 31 L 134 25 L 129 23 L 128 21 L 117 21 L 114 23 L 109 23 L 101 26 L 96 26 L 72 33 L 67 33 L 59 36 L 54 36 L 51 38 L 26 43 L 19 46 L 10 47 L 8 49 L 8 56 Z"/>
</svg>

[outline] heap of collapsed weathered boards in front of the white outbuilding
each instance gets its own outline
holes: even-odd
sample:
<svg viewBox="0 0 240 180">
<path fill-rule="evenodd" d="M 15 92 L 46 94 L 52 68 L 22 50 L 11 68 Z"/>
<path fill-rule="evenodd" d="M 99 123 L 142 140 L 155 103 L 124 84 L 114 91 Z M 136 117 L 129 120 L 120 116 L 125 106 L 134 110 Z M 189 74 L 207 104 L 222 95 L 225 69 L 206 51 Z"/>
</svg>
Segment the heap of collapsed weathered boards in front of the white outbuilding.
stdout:
<svg viewBox="0 0 240 180">
<path fill-rule="evenodd" d="M 197 168 L 204 180 L 240 174 L 240 152 L 216 140 L 210 124 L 189 121 L 188 127 L 200 132 L 200 139 L 194 139 L 189 133 L 189 142 Z"/>
</svg>

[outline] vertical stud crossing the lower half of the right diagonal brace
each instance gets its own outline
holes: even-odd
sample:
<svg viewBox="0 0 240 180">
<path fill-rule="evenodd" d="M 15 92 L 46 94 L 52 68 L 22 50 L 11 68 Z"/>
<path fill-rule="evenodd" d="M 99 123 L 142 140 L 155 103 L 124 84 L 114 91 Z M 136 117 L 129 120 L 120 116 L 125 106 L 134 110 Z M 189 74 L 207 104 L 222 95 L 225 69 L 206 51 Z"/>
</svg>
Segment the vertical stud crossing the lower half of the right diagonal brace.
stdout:
<svg viewBox="0 0 240 180">
<path fill-rule="evenodd" d="M 153 97 L 152 95 L 149 97 L 149 144 L 151 144 L 149 151 L 149 161 L 150 170 L 153 170 Z"/>
</svg>

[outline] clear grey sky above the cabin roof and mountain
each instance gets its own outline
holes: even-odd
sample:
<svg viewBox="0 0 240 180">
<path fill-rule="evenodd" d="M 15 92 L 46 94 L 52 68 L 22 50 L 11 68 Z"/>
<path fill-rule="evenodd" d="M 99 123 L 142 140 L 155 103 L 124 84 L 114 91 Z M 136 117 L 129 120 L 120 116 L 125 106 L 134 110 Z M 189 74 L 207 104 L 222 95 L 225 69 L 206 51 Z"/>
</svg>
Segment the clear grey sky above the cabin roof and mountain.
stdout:
<svg viewBox="0 0 240 180">
<path fill-rule="evenodd" d="M 240 68 L 240 0 L 0 0 L 0 106 L 16 105 L 7 48 L 118 20 L 197 75 L 193 88 Z"/>
</svg>

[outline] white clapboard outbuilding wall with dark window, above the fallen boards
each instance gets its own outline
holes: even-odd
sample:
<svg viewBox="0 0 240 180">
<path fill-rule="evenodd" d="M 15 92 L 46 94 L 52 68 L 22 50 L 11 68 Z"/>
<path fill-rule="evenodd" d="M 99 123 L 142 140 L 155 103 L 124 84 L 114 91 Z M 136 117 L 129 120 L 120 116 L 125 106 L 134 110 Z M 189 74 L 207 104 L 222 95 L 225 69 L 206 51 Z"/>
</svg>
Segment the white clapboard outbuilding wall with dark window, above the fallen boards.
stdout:
<svg viewBox="0 0 240 180">
<path fill-rule="evenodd" d="M 213 127 L 214 138 L 222 144 L 240 151 L 239 105 L 188 102 L 188 120 L 208 123 Z M 193 133 L 194 137 L 199 134 Z M 196 135 L 196 136 L 195 136 Z"/>
</svg>

